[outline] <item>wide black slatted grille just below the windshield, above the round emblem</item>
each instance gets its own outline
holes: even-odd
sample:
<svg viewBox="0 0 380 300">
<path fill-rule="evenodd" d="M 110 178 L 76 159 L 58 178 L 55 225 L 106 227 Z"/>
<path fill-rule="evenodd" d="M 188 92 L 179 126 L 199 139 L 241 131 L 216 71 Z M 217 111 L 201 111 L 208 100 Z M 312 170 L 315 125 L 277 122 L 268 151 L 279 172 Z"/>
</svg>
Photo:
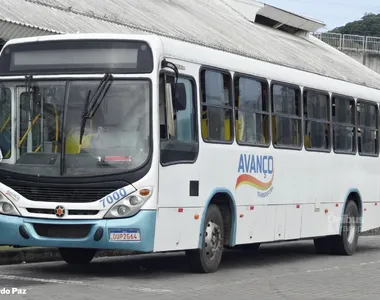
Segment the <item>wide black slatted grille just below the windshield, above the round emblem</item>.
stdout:
<svg viewBox="0 0 380 300">
<path fill-rule="evenodd" d="M 51 188 L 11 185 L 12 189 L 31 201 L 43 202 L 94 202 L 115 191 L 115 188 Z"/>
</svg>

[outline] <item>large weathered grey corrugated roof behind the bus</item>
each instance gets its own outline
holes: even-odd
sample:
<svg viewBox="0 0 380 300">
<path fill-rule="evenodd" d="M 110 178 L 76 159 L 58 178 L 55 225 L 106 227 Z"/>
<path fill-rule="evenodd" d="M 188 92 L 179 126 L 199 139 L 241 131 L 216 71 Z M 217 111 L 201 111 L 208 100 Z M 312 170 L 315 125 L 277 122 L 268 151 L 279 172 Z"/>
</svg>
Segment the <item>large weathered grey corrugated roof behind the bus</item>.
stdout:
<svg viewBox="0 0 380 300">
<path fill-rule="evenodd" d="M 313 37 L 248 22 L 223 0 L 2 0 L 0 19 L 67 33 L 156 33 L 380 87 L 380 75 L 354 59 Z"/>
</svg>

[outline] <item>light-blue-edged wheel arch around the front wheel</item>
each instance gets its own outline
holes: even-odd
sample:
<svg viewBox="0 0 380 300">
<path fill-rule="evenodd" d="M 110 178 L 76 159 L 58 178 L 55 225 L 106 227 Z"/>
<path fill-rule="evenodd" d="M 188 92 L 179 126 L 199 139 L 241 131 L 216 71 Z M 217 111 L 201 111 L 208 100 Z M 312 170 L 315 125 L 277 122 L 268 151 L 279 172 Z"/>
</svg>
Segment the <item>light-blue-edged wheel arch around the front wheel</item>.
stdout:
<svg viewBox="0 0 380 300">
<path fill-rule="evenodd" d="M 224 244 L 234 246 L 236 241 L 236 202 L 231 191 L 226 188 L 216 188 L 206 201 L 202 214 L 198 248 L 202 248 L 203 228 L 207 210 L 211 204 L 216 204 L 220 209 L 224 223 Z"/>
</svg>

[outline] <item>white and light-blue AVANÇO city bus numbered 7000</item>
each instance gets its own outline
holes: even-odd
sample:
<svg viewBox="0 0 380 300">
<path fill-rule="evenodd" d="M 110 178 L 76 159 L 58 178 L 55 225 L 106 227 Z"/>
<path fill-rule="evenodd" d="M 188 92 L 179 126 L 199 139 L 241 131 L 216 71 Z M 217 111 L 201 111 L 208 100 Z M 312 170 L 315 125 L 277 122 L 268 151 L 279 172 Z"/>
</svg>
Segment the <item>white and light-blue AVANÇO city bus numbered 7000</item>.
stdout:
<svg viewBox="0 0 380 300">
<path fill-rule="evenodd" d="M 380 226 L 380 91 L 153 35 L 9 41 L 0 55 L 0 244 L 186 251 Z"/>
</svg>

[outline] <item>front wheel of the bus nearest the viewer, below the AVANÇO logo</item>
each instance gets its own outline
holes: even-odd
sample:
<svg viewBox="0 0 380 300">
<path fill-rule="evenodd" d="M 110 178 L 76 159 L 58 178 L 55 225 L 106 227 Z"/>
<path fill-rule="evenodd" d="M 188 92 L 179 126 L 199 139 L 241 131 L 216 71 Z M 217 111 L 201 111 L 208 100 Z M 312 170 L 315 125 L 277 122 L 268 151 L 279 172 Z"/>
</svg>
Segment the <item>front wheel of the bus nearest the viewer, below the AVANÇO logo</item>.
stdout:
<svg viewBox="0 0 380 300">
<path fill-rule="evenodd" d="M 210 241 L 210 238 L 214 238 L 214 241 Z M 192 271 L 197 273 L 216 272 L 222 260 L 223 244 L 223 217 L 218 206 L 211 204 L 204 220 L 202 248 L 186 251 Z M 210 249 L 211 247 L 213 248 Z"/>
</svg>

